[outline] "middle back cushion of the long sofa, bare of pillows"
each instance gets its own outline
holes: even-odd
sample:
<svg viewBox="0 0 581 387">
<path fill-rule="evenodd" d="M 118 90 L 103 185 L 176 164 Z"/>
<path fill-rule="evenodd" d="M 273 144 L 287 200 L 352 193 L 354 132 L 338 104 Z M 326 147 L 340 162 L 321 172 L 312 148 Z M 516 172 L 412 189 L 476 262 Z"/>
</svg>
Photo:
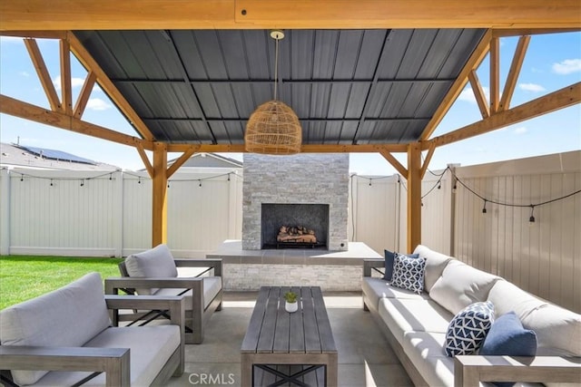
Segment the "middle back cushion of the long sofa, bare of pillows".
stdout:
<svg viewBox="0 0 581 387">
<path fill-rule="evenodd" d="M 487 301 L 488 292 L 499 279 L 499 276 L 452 260 L 429 290 L 429 296 L 452 314 L 458 314 L 468 305 Z"/>
</svg>

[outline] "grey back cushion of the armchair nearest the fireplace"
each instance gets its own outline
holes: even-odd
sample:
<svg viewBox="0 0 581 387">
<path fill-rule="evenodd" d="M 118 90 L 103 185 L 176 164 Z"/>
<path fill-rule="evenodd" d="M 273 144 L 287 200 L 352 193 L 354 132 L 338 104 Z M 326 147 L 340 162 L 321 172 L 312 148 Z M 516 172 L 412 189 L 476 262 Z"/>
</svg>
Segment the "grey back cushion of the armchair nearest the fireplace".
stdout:
<svg viewBox="0 0 581 387">
<path fill-rule="evenodd" d="M 158 245 L 142 253 L 125 258 L 129 276 L 137 278 L 171 278 L 178 276 L 172 252 L 166 245 Z M 152 295 L 158 289 L 138 288 L 139 295 Z"/>
</svg>

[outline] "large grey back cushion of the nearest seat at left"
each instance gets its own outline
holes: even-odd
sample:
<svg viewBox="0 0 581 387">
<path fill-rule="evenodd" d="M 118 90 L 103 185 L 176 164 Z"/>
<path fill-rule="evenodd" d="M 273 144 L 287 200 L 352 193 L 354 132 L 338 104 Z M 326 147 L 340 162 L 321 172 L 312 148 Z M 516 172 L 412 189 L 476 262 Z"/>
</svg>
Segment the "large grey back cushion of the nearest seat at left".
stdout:
<svg viewBox="0 0 581 387">
<path fill-rule="evenodd" d="M 111 324 L 98 273 L 0 312 L 3 345 L 77 347 Z M 17 384 L 33 384 L 45 371 L 12 372 Z"/>
</svg>

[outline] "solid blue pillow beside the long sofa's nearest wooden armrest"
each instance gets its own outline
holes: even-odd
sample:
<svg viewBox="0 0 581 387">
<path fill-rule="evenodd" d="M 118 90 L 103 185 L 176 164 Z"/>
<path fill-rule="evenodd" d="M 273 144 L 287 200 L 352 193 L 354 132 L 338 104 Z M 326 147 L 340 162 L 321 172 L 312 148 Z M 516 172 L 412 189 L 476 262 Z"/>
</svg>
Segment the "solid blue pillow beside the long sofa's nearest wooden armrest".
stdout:
<svg viewBox="0 0 581 387">
<path fill-rule="evenodd" d="M 525 329 L 517 314 L 508 312 L 497 318 L 490 327 L 479 354 L 534 356 L 537 353 L 537 334 Z M 514 382 L 495 382 L 498 387 L 510 387 Z"/>
</svg>

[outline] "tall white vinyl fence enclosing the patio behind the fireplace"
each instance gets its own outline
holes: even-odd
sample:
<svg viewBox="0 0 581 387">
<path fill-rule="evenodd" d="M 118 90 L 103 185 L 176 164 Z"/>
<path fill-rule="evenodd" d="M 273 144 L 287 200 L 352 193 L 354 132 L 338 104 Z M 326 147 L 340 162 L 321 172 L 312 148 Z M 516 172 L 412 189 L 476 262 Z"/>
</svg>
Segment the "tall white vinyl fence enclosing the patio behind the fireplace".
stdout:
<svg viewBox="0 0 581 387">
<path fill-rule="evenodd" d="M 581 151 L 428 171 L 422 244 L 579 312 L 579 190 Z M 352 176 L 350 240 L 380 254 L 405 251 L 406 195 L 398 175 Z M 168 189 L 175 256 L 205 256 L 240 239 L 241 203 L 241 176 L 176 173 Z M 145 173 L 1 171 L 3 255 L 127 256 L 151 247 L 151 229 Z"/>
</svg>

